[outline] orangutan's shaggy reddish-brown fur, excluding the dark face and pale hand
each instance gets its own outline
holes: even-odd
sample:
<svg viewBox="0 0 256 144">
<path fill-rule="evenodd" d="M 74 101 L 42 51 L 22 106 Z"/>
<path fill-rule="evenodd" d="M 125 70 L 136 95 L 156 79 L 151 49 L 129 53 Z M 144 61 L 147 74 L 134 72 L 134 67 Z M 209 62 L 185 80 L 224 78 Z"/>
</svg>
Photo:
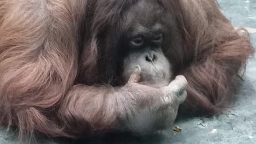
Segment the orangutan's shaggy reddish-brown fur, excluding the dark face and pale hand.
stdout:
<svg viewBox="0 0 256 144">
<path fill-rule="evenodd" d="M 114 129 L 117 113 L 105 101 L 114 87 L 94 85 L 114 81 L 117 66 L 98 36 L 137 1 L 0 0 L 0 124 L 17 126 L 20 138 Z M 183 106 L 219 113 L 253 54 L 249 39 L 214 0 L 156 1 L 177 20 L 183 50 L 164 51 L 188 80 Z"/>
</svg>

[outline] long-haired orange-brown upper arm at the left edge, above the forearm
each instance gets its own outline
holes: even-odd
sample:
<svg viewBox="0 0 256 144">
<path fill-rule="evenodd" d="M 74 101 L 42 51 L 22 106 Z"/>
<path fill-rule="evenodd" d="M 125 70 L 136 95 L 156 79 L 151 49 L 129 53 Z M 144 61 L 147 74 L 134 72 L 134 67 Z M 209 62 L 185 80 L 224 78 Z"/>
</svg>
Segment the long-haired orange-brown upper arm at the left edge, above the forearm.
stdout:
<svg viewBox="0 0 256 144">
<path fill-rule="evenodd" d="M 20 137 L 66 135 L 53 119 L 76 77 L 75 13 L 86 1 L 69 2 L 0 1 L 0 124 L 18 126 Z"/>
</svg>

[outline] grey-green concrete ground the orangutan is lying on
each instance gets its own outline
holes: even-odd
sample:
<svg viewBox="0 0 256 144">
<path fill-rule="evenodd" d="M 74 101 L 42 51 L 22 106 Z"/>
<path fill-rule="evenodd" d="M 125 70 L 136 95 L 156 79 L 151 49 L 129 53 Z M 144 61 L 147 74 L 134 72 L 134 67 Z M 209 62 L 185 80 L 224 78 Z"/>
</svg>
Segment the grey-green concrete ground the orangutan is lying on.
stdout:
<svg viewBox="0 0 256 144">
<path fill-rule="evenodd" d="M 223 13 L 235 27 L 244 26 L 251 32 L 256 46 L 256 0 L 219 0 Z M 54 142 L 43 140 L 42 143 L 256 143 L 256 59 L 251 59 L 245 74 L 245 83 L 236 94 L 236 100 L 225 114 L 213 118 L 179 118 L 175 125 L 183 128 L 182 132 L 167 130 L 162 135 L 147 138 L 117 137 L 94 138 L 90 141 Z M 175 135 L 173 134 L 175 133 Z M 0 131 L 0 144 L 17 143 L 11 135 Z M 34 142 L 33 142 L 34 143 Z M 38 141 L 38 143 L 41 143 Z"/>
</svg>

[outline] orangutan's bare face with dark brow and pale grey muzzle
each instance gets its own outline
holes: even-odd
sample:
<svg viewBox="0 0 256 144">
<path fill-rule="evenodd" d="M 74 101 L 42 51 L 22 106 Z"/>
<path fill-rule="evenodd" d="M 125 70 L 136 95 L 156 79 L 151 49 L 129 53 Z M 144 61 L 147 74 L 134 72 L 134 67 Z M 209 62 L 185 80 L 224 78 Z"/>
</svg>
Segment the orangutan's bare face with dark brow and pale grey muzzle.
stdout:
<svg viewBox="0 0 256 144">
<path fill-rule="evenodd" d="M 159 87 L 170 83 L 172 67 L 162 51 L 165 38 L 171 37 L 171 31 L 165 26 L 168 23 L 163 24 L 165 17 L 159 5 L 148 1 L 140 1 L 125 15 L 124 27 L 128 28 L 124 46 L 128 52 L 124 59 L 123 77 L 126 82 L 139 65 L 140 82 Z"/>
</svg>

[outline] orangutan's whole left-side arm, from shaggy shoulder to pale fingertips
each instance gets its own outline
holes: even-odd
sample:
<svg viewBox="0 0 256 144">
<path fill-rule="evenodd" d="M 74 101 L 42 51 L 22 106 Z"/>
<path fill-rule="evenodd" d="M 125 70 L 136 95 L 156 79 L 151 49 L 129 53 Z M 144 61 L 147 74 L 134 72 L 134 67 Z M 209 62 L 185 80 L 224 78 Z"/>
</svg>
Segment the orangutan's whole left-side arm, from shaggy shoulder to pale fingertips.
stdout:
<svg viewBox="0 0 256 144">
<path fill-rule="evenodd" d="M 135 83 L 139 73 L 124 87 L 73 86 L 85 4 L 0 1 L 0 124 L 18 126 L 20 138 L 161 129 L 186 98 L 184 77 L 161 89 Z"/>
</svg>

